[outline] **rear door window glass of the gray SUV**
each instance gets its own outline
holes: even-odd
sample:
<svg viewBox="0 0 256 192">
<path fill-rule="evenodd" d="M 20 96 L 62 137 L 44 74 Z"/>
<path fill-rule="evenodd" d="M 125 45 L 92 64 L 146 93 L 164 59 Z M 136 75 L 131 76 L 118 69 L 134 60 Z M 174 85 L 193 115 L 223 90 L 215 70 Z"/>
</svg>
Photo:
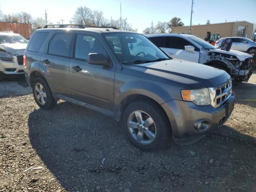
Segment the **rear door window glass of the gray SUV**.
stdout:
<svg viewBox="0 0 256 192">
<path fill-rule="evenodd" d="M 50 40 L 48 54 L 70 57 L 71 39 L 70 33 L 56 33 Z"/>
</svg>

